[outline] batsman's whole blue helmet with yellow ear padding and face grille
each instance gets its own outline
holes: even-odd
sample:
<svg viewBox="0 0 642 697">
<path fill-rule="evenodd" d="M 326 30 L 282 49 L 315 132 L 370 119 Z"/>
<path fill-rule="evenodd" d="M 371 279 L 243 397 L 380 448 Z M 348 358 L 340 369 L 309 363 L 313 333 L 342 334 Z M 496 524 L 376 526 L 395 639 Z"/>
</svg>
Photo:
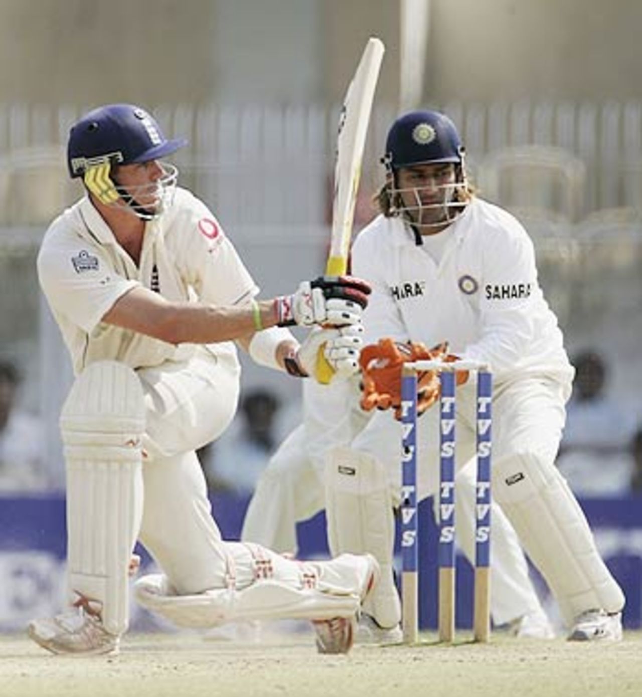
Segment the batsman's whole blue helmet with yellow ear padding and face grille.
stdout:
<svg viewBox="0 0 642 697">
<path fill-rule="evenodd" d="M 161 163 L 162 176 L 153 183 L 122 187 L 114 168 L 159 160 L 187 145 L 168 140 L 155 118 L 132 104 L 109 104 L 82 116 L 69 133 L 67 165 L 72 178 L 83 178 L 87 189 L 106 206 L 120 206 L 142 220 L 153 220 L 171 203 L 178 169 Z M 137 199 L 153 199 L 152 204 Z"/>
</svg>

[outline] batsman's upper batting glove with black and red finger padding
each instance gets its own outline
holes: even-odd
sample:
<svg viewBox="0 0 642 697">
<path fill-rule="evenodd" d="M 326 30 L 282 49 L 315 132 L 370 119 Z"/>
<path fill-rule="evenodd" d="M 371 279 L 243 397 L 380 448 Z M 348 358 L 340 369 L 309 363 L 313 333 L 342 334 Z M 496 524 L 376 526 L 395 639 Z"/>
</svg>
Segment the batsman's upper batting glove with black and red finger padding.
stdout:
<svg viewBox="0 0 642 697">
<path fill-rule="evenodd" d="M 304 281 L 291 296 L 275 298 L 279 326 L 354 324 L 367 305 L 370 286 L 351 276 L 322 276 Z"/>
</svg>

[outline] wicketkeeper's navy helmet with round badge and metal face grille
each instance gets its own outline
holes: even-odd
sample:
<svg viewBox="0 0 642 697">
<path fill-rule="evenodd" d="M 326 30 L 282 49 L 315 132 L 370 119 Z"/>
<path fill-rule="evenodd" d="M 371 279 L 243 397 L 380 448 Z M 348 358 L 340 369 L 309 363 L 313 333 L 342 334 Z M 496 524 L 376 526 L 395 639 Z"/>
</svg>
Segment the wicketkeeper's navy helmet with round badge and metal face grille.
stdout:
<svg viewBox="0 0 642 697">
<path fill-rule="evenodd" d="M 422 211 L 429 208 L 443 209 L 443 220 L 438 223 L 425 223 L 427 227 L 443 225 L 457 217 L 470 198 L 464 166 L 464 146 L 454 123 L 440 112 L 409 112 L 397 118 L 388 131 L 385 141 L 385 155 L 381 158 L 388 181 L 379 200 L 385 215 L 399 215 L 409 222 L 422 227 Z M 422 203 L 418 188 L 400 189 L 398 171 L 404 167 L 421 164 L 442 164 L 452 162 L 455 166 L 455 181 L 441 185 L 443 201 L 437 204 Z M 411 192 L 413 204 L 404 202 L 402 193 Z M 406 197 L 407 198 L 407 197 Z M 387 199 L 387 200 L 386 200 Z"/>
</svg>

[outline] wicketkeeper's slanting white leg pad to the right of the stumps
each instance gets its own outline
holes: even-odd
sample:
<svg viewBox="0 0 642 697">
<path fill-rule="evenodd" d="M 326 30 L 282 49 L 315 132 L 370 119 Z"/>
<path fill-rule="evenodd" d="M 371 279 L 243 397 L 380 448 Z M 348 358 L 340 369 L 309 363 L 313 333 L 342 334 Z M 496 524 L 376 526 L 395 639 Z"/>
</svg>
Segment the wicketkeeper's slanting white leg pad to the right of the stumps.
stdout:
<svg viewBox="0 0 642 697">
<path fill-rule="evenodd" d="M 575 497 L 534 453 L 497 461 L 494 496 L 555 595 L 565 620 L 591 609 L 622 610 L 625 598 L 599 556 Z"/>
</svg>

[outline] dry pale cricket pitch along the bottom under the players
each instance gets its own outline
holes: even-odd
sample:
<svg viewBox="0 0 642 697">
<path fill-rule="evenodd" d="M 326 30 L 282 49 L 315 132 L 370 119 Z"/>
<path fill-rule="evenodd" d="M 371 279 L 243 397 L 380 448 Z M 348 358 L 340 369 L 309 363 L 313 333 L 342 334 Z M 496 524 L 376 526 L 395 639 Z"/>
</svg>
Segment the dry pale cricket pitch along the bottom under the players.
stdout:
<svg viewBox="0 0 642 697">
<path fill-rule="evenodd" d="M 312 633 L 260 643 L 196 634 L 125 637 L 118 657 L 47 654 L 22 636 L 0 637 L 0 697 L 613 697 L 642 694 L 642 634 L 617 644 L 516 640 L 414 647 L 356 646 L 321 656 Z"/>
</svg>

